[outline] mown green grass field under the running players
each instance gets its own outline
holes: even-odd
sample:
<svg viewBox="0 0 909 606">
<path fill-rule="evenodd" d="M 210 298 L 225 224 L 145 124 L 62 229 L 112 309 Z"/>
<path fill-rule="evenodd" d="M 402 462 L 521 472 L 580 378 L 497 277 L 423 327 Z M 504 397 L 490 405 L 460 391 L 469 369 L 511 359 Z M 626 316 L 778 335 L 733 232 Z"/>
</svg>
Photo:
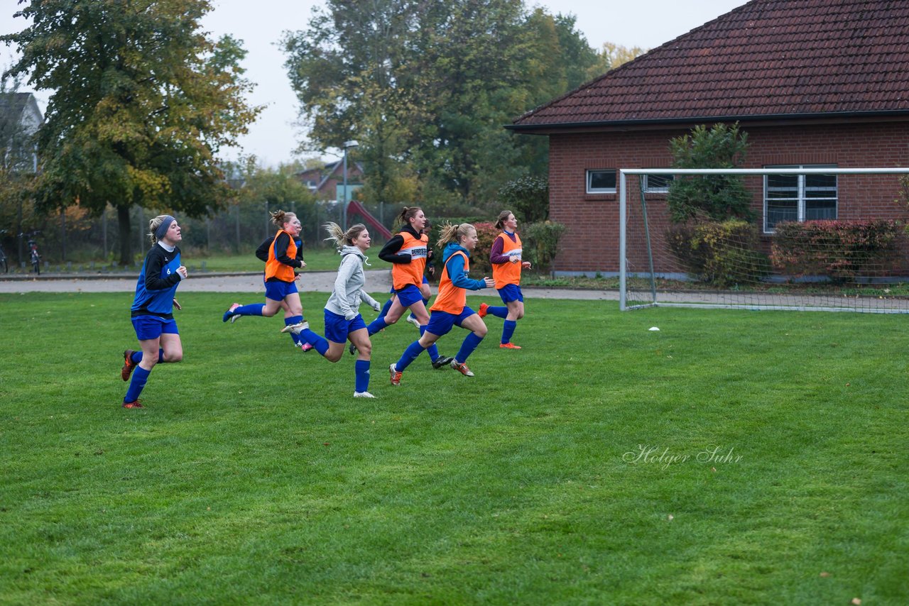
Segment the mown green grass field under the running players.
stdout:
<svg viewBox="0 0 909 606">
<path fill-rule="evenodd" d="M 131 299 L 0 294 L 2 603 L 909 601 L 902 316 L 532 300 L 473 379 L 375 335 L 365 402 L 184 293 L 127 411 Z"/>
</svg>

